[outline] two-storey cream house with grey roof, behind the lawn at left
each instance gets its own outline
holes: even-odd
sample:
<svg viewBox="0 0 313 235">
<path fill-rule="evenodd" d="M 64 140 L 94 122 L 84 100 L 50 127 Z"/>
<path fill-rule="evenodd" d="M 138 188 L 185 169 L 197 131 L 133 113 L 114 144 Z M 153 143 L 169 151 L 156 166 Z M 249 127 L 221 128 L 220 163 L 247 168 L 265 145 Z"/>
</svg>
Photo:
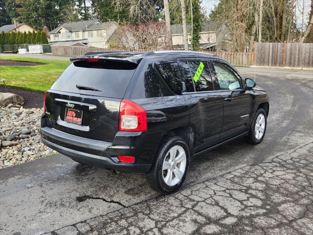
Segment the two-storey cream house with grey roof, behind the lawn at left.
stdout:
<svg viewBox="0 0 313 235">
<path fill-rule="evenodd" d="M 50 43 L 55 46 L 109 47 L 117 29 L 116 22 L 99 20 L 65 23 L 50 31 Z"/>
</svg>

